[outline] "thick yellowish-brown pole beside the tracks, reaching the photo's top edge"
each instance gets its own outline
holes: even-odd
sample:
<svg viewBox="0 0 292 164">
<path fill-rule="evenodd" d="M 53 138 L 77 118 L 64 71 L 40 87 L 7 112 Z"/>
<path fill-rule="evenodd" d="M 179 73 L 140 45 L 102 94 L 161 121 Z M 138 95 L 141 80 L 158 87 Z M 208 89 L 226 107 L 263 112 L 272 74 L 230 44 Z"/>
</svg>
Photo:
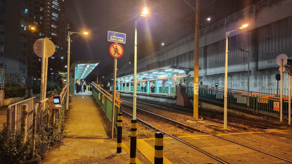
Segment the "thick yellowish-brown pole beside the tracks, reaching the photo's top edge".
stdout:
<svg viewBox="0 0 292 164">
<path fill-rule="evenodd" d="M 200 0 L 196 0 L 196 25 L 195 25 L 195 61 L 194 61 L 194 119 L 199 115 L 199 40 L 200 40 Z"/>
</svg>

